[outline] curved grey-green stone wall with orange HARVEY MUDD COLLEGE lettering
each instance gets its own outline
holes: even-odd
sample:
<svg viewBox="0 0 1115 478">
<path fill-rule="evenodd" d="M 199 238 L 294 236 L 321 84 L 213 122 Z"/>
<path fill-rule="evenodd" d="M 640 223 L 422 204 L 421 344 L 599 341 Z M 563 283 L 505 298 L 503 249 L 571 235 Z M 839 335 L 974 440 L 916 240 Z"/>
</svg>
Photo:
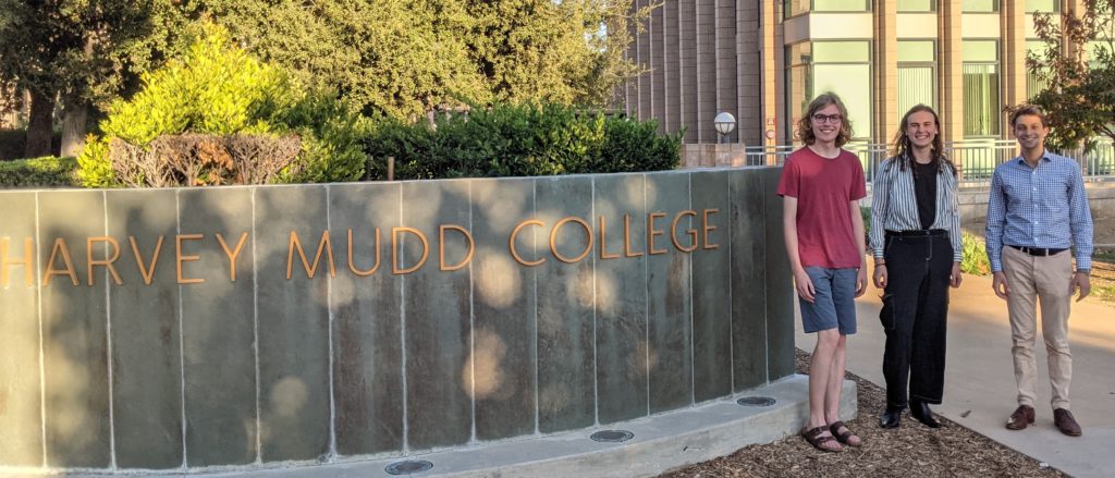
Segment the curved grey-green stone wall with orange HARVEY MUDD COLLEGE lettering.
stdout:
<svg viewBox="0 0 1115 478">
<path fill-rule="evenodd" d="M 780 169 L 0 193 L 0 470 L 406 455 L 793 373 Z"/>
</svg>

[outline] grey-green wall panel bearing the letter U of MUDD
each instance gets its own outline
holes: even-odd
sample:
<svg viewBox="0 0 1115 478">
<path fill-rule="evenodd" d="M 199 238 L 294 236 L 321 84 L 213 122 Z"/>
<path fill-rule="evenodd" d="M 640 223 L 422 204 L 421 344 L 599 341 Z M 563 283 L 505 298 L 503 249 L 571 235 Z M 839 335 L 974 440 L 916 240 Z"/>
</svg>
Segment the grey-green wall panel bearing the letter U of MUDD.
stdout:
<svg viewBox="0 0 1115 478">
<path fill-rule="evenodd" d="M 333 399 L 342 456 L 403 449 L 403 277 L 391 274 L 391 227 L 401 224 L 399 193 L 399 184 L 329 189 L 339 269 L 330 289 Z"/>
</svg>

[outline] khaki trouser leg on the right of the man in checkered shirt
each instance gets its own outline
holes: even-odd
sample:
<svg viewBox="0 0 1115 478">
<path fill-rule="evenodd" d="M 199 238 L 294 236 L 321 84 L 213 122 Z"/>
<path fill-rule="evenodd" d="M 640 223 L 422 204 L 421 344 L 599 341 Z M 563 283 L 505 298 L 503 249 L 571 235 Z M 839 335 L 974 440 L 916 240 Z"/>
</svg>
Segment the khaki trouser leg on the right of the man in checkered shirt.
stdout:
<svg viewBox="0 0 1115 478">
<path fill-rule="evenodd" d="M 1041 338 L 1049 360 L 1053 409 L 1069 409 L 1068 386 L 1073 380 L 1073 353 L 1068 348 L 1068 314 L 1073 295 L 1073 260 L 1066 251 L 1051 257 L 1037 257 L 1034 275 L 1041 305 Z"/>
</svg>

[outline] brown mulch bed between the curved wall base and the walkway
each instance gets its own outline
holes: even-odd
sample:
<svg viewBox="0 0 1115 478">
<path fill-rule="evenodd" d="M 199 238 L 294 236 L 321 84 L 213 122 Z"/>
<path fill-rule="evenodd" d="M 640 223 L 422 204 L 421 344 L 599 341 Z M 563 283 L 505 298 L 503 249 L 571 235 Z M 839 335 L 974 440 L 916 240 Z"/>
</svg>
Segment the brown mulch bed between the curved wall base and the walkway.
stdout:
<svg viewBox="0 0 1115 478">
<path fill-rule="evenodd" d="M 805 373 L 809 355 L 797 351 L 797 371 Z M 662 475 L 680 477 L 1065 477 L 1067 475 L 1018 453 L 943 417 L 932 430 L 905 413 L 902 427 L 879 428 L 885 391 L 855 374 L 860 410 L 847 422 L 864 440 L 861 448 L 822 452 L 793 436 L 753 445 L 711 461 Z M 1006 419 L 1006 418 L 1004 418 Z"/>
</svg>

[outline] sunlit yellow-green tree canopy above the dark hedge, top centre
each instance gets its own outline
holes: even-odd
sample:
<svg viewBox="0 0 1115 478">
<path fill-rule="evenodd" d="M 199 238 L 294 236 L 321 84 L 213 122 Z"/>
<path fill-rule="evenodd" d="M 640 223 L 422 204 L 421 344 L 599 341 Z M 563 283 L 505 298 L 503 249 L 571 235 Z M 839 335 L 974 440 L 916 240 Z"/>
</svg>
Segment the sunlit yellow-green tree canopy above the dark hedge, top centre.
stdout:
<svg viewBox="0 0 1115 478">
<path fill-rule="evenodd" d="M 603 106 L 637 71 L 630 0 L 195 0 L 250 51 L 366 114 L 494 100 Z M 614 26 L 602 35 L 604 25 Z"/>
</svg>

